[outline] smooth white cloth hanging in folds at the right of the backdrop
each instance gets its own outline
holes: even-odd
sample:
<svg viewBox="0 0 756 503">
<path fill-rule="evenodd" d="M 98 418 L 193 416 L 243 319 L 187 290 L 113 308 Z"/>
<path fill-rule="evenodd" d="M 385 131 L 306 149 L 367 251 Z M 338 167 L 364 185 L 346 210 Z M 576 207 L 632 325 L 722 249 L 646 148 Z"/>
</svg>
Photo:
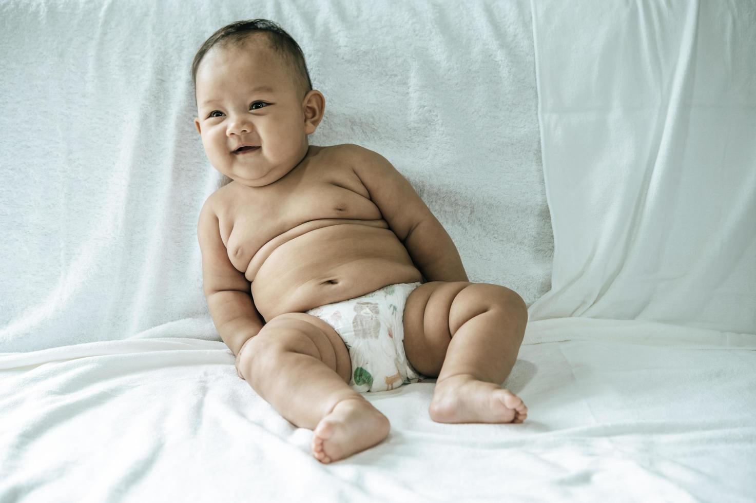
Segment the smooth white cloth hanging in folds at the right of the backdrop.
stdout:
<svg viewBox="0 0 756 503">
<path fill-rule="evenodd" d="M 756 334 L 756 3 L 532 7 L 555 250 L 531 320 Z"/>
</svg>

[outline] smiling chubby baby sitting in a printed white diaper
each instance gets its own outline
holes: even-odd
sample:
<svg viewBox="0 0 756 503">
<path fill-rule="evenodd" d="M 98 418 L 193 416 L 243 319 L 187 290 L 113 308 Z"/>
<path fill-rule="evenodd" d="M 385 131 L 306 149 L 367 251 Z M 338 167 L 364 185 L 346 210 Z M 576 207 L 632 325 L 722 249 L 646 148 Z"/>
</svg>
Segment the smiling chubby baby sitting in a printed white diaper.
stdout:
<svg viewBox="0 0 756 503">
<path fill-rule="evenodd" d="M 325 98 L 299 45 L 268 20 L 231 23 L 192 65 L 194 125 L 231 182 L 197 234 L 203 292 L 237 373 L 329 463 L 375 446 L 389 420 L 361 393 L 437 377 L 441 423 L 522 423 L 500 387 L 528 312 L 467 281 L 457 248 L 404 176 L 355 144 L 308 144 Z"/>
</svg>

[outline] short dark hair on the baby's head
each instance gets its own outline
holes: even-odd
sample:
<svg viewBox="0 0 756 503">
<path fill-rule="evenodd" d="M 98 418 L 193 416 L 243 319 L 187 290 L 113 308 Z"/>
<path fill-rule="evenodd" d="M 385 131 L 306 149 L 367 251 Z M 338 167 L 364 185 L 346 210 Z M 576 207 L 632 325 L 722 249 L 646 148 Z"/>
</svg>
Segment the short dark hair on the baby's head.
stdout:
<svg viewBox="0 0 756 503">
<path fill-rule="evenodd" d="M 218 29 L 203 43 L 200 50 L 194 55 L 194 61 L 191 64 L 191 82 L 194 85 L 195 97 L 197 96 L 197 69 L 200 67 L 205 54 L 215 45 L 218 45 L 218 47 L 225 47 L 229 44 L 241 45 L 246 39 L 256 33 L 262 33 L 267 36 L 271 48 L 280 54 L 283 60 L 289 64 L 292 76 L 299 81 L 296 82 L 296 86 L 302 92 L 301 98 L 304 98 L 312 90 L 312 81 L 310 80 L 310 73 L 307 71 L 305 54 L 302 53 L 299 44 L 286 33 L 286 30 L 273 21 L 250 19 L 236 21 Z"/>
</svg>

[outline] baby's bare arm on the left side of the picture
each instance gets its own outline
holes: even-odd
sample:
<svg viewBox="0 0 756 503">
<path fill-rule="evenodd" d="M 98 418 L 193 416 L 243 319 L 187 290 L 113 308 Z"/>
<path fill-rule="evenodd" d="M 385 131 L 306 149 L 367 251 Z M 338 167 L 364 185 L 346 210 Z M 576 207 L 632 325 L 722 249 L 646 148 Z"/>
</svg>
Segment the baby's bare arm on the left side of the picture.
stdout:
<svg viewBox="0 0 756 503">
<path fill-rule="evenodd" d="M 218 216 L 209 200 L 200 211 L 197 239 L 202 250 L 203 293 L 210 316 L 223 342 L 237 356 L 241 346 L 256 336 L 265 322 L 249 293 L 249 281 L 228 259 Z"/>
</svg>

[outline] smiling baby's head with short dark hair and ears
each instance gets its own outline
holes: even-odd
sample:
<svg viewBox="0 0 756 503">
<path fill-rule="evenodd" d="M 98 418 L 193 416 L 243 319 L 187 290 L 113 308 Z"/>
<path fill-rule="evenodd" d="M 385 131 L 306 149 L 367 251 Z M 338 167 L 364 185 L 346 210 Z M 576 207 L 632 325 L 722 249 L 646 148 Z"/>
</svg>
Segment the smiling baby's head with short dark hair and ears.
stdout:
<svg viewBox="0 0 756 503">
<path fill-rule="evenodd" d="M 302 49 L 276 23 L 237 21 L 218 29 L 192 63 L 197 118 L 210 163 L 242 185 L 280 179 L 305 157 L 323 118 Z M 253 148 L 237 149 L 241 145 Z"/>
</svg>

